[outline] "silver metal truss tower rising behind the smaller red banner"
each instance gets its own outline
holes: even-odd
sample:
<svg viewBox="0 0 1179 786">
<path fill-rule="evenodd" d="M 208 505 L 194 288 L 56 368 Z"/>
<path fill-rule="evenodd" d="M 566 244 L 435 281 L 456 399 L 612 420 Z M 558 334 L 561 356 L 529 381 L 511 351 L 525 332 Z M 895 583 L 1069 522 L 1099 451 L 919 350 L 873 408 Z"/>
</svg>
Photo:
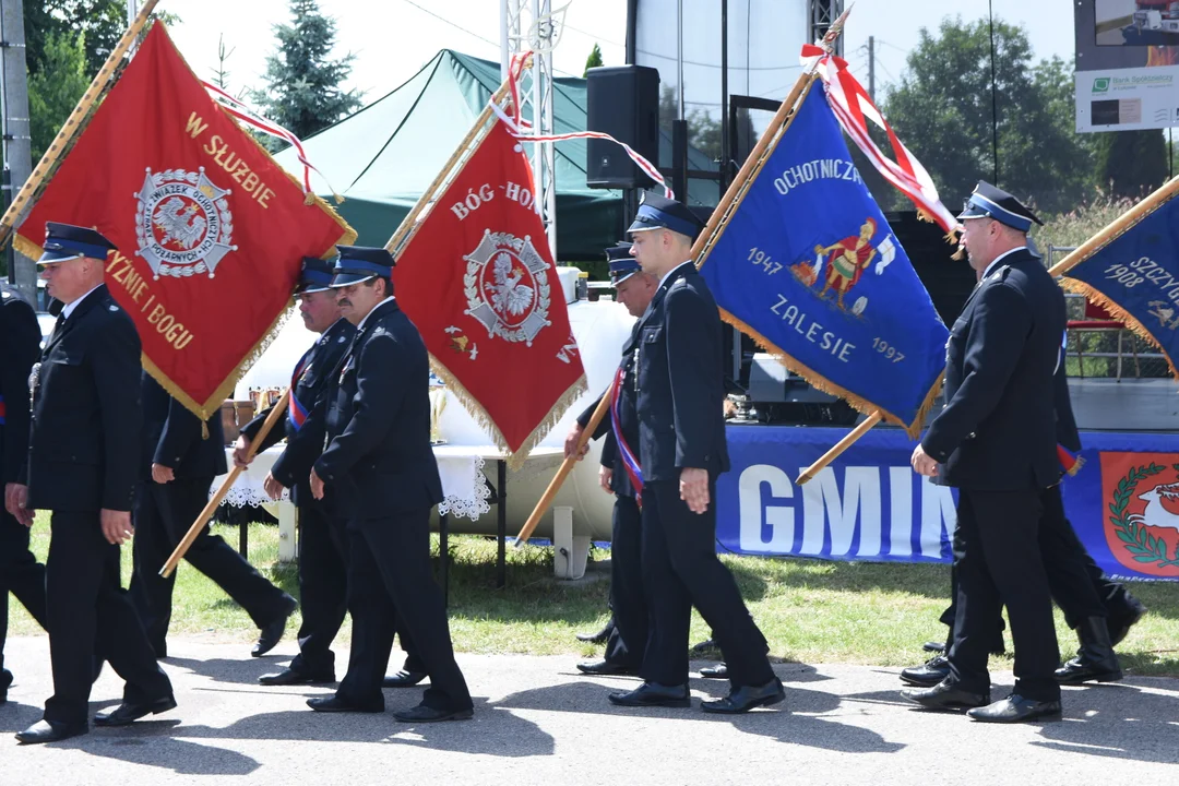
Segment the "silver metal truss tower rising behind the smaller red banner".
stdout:
<svg viewBox="0 0 1179 786">
<path fill-rule="evenodd" d="M 553 49 L 561 38 L 566 2 L 554 13 L 552 0 L 500 0 L 500 73 L 507 79 L 513 54 L 532 52 L 521 74 L 520 115 L 535 136 L 553 133 Z M 536 204 L 556 259 L 556 170 L 553 143 L 529 143 Z"/>
</svg>

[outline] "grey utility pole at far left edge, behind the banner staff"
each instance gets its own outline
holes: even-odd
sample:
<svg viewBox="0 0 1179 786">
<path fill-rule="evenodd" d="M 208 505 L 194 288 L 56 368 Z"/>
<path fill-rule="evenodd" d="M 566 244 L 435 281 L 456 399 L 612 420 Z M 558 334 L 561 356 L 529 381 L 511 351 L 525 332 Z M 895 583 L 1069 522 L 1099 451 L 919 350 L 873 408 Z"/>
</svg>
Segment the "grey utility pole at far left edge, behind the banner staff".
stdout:
<svg viewBox="0 0 1179 786">
<path fill-rule="evenodd" d="M 0 119 L 4 146 L 4 206 L 7 206 L 33 172 L 32 139 L 28 136 L 28 74 L 25 70 L 25 4 L 0 0 Z M 11 247 L 8 280 L 29 299 L 37 299 L 37 265 Z"/>
</svg>

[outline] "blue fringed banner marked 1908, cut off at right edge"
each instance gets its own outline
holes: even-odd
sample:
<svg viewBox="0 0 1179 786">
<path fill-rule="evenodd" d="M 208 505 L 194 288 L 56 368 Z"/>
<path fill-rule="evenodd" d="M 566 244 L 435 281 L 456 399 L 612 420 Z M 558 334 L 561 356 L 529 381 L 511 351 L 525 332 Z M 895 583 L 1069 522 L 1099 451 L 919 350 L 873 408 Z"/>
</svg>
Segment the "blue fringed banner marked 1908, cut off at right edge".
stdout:
<svg viewBox="0 0 1179 786">
<path fill-rule="evenodd" d="M 1065 289 L 1080 291 L 1157 344 L 1179 377 L 1174 364 L 1179 351 L 1179 199 L 1162 203 L 1063 276 Z"/>
</svg>

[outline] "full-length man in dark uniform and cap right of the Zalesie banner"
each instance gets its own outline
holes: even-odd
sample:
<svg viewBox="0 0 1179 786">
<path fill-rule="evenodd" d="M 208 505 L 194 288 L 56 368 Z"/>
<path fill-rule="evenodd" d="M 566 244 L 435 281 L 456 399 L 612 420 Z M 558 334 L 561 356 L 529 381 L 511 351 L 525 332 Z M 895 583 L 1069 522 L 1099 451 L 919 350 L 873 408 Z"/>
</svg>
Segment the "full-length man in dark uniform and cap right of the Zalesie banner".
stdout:
<svg viewBox="0 0 1179 786">
<path fill-rule="evenodd" d="M 1059 715 L 1060 653 L 1038 531 L 1041 494 L 1060 480 L 1053 375 L 1065 296 L 1027 247 L 1040 220 L 980 183 L 959 216 L 980 282 L 947 342 L 946 408 L 913 453 L 914 469 L 959 489 L 957 612 L 949 676 L 905 698 L 975 720 Z M 987 658 L 1002 606 L 1015 645 L 1015 688 L 990 702 Z"/>
</svg>

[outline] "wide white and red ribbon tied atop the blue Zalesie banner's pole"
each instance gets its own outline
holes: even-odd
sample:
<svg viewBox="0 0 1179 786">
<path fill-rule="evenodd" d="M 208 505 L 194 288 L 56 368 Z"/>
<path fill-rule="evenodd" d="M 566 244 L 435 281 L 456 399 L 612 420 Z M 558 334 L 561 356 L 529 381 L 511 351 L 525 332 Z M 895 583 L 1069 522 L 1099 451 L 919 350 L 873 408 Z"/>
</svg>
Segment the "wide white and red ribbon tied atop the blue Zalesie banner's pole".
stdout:
<svg viewBox="0 0 1179 786">
<path fill-rule="evenodd" d="M 876 108 L 868 91 L 848 71 L 848 61 L 812 44 L 803 45 L 801 60 L 808 71 L 818 72 L 826 86 L 826 103 L 835 112 L 839 126 L 855 140 L 856 146 L 884 179 L 909 197 L 917 209 L 936 222 L 943 231 L 949 233 L 959 230 L 961 225 L 941 203 L 933 178 L 893 131 L 893 126 Z M 868 132 L 869 120 L 888 134 L 893 158 L 885 156 L 872 141 Z"/>
</svg>

